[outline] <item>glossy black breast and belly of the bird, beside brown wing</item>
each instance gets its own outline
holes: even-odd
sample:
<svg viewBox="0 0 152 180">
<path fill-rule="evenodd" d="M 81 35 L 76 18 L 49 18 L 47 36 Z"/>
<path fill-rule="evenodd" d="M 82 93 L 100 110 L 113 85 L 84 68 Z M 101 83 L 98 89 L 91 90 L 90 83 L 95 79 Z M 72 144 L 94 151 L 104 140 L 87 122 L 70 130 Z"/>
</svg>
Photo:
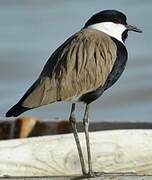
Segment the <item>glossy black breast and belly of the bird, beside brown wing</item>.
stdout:
<svg viewBox="0 0 152 180">
<path fill-rule="evenodd" d="M 120 41 L 116 40 L 115 38 L 112 38 L 112 40 L 117 46 L 117 59 L 114 63 L 112 71 L 110 72 L 103 86 L 100 86 L 95 91 L 86 93 L 80 97 L 80 101 L 83 101 L 84 103 L 89 104 L 100 97 L 106 89 L 111 87 L 119 79 L 125 69 L 128 57 L 127 49 Z"/>
</svg>

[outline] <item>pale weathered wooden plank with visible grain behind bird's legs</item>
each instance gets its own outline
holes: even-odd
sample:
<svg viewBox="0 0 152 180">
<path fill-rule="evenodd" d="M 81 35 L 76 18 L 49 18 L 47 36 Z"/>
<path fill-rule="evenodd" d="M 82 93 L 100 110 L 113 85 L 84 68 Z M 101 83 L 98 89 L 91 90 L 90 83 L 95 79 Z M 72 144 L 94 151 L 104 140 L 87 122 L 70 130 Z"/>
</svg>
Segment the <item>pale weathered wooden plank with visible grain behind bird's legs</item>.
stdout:
<svg viewBox="0 0 152 180">
<path fill-rule="evenodd" d="M 152 130 L 90 133 L 94 171 L 152 175 Z M 80 133 L 86 158 L 84 134 Z M 0 141 L 0 177 L 79 176 L 72 134 Z"/>
</svg>

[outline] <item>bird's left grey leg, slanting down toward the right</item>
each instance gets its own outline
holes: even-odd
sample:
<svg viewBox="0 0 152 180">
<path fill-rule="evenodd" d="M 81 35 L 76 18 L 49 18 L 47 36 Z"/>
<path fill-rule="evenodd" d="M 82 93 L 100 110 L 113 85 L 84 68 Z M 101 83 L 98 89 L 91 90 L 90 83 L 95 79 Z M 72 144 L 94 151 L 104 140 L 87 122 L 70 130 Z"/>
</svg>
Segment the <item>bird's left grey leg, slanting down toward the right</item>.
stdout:
<svg viewBox="0 0 152 180">
<path fill-rule="evenodd" d="M 84 157 L 83 157 L 83 154 L 82 154 L 82 149 L 81 149 L 81 145 L 80 145 L 80 141 L 79 141 L 78 131 L 77 131 L 77 128 L 76 128 L 76 119 L 75 119 L 75 115 L 74 115 L 74 110 L 75 110 L 75 104 L 73 103 L 72 107 L 71 107 L 69 123 L 71 125 L 72 131 L 73 131 L 73 134 L 74 134 L 74 138 L 75 138 L 75 142 L 76 142 L 76 145 L 77 145 L 79 158 L 80 158 L 80 163 L 81 163 L 81 168 L 82 168 L 82 173 L 84 175 L 86 175 L 87 171 L 86 171 Z"/>
</svg>

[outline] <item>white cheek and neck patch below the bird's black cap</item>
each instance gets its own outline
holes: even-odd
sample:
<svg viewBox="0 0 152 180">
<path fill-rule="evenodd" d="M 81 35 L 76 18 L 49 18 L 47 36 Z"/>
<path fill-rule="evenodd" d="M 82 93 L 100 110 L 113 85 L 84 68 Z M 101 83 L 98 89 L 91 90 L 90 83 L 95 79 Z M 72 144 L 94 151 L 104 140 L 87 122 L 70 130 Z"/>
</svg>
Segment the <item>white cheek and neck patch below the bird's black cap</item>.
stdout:
<svg viewBox="0 0 152 180">
<path fill-rule="evenodd" d="M 102 23 L 90 25 L 89 28 L 102 31 L 102 32 L 108 34 L 109 36 L 116 38 L 118 41 L 120 41 L 124 44 L 124 42 L 122 40 L 122 33 L 127 28 L 123 24 L 116 24 L 113 22 L 102 22 Z"/>
</svg>

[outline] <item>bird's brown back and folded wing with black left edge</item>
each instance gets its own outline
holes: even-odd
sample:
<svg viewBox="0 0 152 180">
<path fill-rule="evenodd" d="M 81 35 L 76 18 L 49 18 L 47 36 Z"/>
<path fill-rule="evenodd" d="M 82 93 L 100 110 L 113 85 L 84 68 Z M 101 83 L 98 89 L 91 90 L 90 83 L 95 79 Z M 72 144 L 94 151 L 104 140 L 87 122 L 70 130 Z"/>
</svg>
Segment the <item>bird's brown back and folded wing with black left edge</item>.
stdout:
<svg viewBox="0 0 152 180">
<path fill-rule="evenodd" d="M 116 60 L 116 50 L 105 33 L 93 29 L 76 33 L 52 54 L 22 98 L 22 106 L 73 101 L 104 85 Z"/>
</svg>

